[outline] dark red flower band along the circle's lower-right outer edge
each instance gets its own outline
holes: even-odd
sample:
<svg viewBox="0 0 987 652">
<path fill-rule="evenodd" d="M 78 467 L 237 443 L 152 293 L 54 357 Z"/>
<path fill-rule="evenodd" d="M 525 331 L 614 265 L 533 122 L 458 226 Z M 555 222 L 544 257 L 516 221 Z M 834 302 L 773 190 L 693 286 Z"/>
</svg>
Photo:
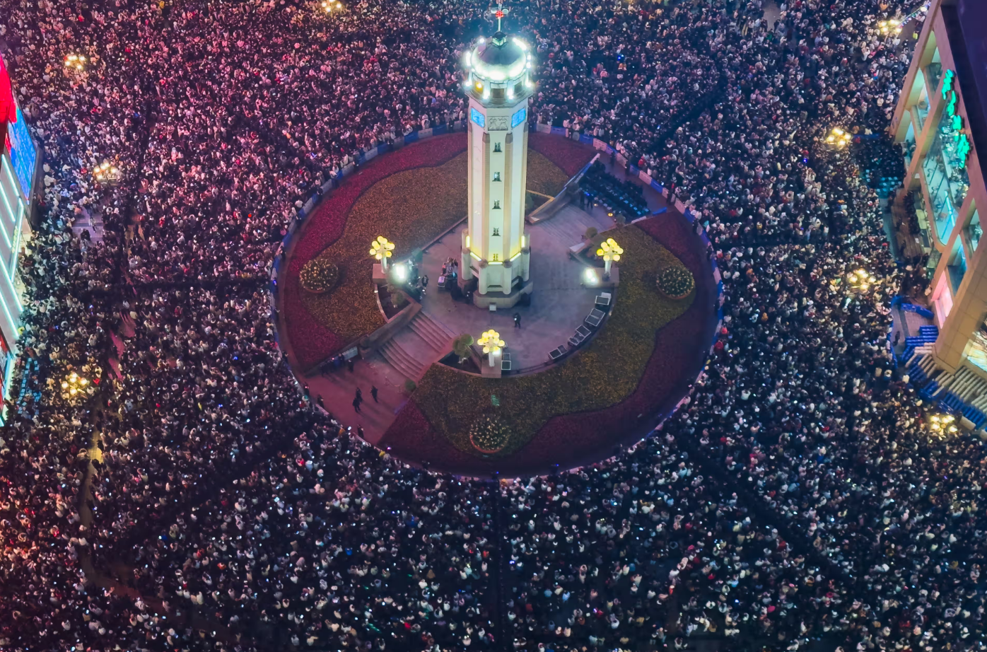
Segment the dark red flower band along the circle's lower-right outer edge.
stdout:
<svg viewBox="0 0 987 652">
<path fill-rule="evenodd" d="M 688 394 L 706 362 L 716 329 L 717 288 L 705 245 L 683 216 L 667 212 L 638 225 L 689 268 L 697 293 L 685 313 L 656 333 L 654 353 L 631 396 L 605 410 L 556 417 L 526 447 L 496 459 L 450 446 L 409 401 L 380 446 L 412 461 L 428 459 L 435 469 L 490 477 L 493 472 L 523 476 L 567 469 L 608 457 L 615 447 L 642 439 Z"/>
</svg>

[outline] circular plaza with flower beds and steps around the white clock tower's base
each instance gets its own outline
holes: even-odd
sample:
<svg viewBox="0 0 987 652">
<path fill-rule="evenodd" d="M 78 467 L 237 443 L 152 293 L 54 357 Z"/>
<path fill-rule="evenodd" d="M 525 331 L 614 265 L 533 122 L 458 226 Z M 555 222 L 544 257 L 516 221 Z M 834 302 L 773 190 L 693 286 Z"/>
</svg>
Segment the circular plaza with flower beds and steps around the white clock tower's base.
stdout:
<svg viewBox="0 0 987 652">
<path fill-rule="evenodd" d="M 706 362 L 706 246 L 609 154 L 532 132 L 528 291 L 481 304 L 462 279 L 467 141 L 381 154 L 313 208 L 276 282 L 281 347 L 313 400 L 409 463 L 513 477 L 609 457 L 665 418 Z M 378 238 L 390 257 L 368 255 Z M 612 262 L 606 243 L 620 250 Z M 331 285 L 314 287 L 313 270 Z"/>
</svg>

